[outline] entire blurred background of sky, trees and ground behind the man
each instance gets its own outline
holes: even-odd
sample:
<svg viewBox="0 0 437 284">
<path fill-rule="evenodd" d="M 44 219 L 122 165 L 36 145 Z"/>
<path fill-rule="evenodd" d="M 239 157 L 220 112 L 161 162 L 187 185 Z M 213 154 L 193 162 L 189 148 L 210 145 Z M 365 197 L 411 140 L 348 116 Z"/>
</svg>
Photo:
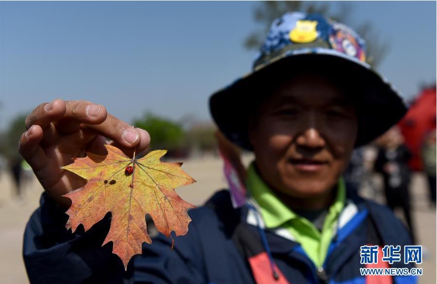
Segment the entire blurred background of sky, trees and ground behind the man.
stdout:
<svg viewBox="0 0 437 284">
<path fill-rule="evenodd" d="M 250 71 L 271 20 L 286 11 L 353 27 L 369 63 L 408 102 L 399 125 L 356 150 L 345 175 L 348 188 L 410 226 L 424 246 L 420 283 L 436 283 L 435 1 L 1 1 L 1 282 L 28 282 L 22 235 L 42 188 L 17 143 L 35 106 L 89 100 L 146 129 L 152 149 L 184 161 L 198 183 L 177 191 L 200 205 L 226 187 L 208 97 Z"/>
</svg>

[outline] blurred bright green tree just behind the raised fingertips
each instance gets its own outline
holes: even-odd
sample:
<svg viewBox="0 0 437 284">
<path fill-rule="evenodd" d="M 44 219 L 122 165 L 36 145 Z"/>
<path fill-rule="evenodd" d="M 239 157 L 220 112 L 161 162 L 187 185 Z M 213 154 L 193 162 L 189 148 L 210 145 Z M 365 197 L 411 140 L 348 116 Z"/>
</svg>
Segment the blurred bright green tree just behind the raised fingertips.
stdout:
<svg viewBox="0 0 437 284">
<path fill-rule="evenodd" d="M 142 118 L 134 119 L 133 125 L 150 134 L 151 148 L 154 150 L 176 150 L 182 146 L 184 129 L 178 122 L 146 113 Z"/>
</svg>

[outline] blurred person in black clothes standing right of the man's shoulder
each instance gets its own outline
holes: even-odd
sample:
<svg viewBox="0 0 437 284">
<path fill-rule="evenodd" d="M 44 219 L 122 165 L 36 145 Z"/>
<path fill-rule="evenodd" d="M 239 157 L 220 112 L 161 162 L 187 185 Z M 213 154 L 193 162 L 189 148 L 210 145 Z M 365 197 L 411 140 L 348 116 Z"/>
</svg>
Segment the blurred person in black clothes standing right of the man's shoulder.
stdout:
<svg viewBox="0 0 437 284">
<path fill-rule="evenodd" d="M 379 149 L 374 169 L 382 173 L 387 206 L 391 210 L 401 207 L 413 242 L 415 241 L 409 185 L 411 169 L 408 161 L 411 152 L 403 144 L 403 136 L 397 126 L 390 128 L 378 139 Z"/>
</svg>

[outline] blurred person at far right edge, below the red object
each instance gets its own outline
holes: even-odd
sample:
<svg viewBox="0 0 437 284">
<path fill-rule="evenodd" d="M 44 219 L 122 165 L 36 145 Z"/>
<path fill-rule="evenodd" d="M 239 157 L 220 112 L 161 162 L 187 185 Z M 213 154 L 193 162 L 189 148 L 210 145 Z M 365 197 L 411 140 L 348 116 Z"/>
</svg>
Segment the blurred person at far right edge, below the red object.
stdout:
<svg viewBox="0 0 437 284">
<path fill-rule="evenodd" d="M 423 171 L 428 180 L 429 201 L 431 206 L 436 206 L 436 130 L 425 135 L 420 150 Z"/>
</svg>

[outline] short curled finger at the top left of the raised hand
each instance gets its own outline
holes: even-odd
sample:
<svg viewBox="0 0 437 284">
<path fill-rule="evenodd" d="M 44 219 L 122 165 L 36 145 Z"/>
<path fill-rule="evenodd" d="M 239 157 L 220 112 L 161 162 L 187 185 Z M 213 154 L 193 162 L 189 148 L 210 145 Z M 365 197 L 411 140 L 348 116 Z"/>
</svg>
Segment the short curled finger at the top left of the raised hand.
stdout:
<svg viewBox="0 0 437 284">
<path fill-rule="evenodd" d="M 41 103 L 26 117 L 26 128 L 29 129 L 32 125 L 39 125 L 42 129 L 45 129 L 50 122 L 59 119 L 65 112 L 66 105 L 63 100 Z"/>
</svg>

